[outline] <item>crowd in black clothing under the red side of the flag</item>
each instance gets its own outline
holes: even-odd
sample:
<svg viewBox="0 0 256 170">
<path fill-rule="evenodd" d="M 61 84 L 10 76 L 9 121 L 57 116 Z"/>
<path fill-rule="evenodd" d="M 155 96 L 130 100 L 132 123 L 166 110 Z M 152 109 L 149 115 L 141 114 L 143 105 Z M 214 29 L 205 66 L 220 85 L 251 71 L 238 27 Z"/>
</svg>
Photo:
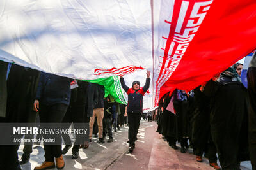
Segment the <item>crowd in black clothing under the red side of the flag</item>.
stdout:
<svg viewBox="0 0 256 170">
<path fill-rule="evenodd" d="M 197 162 L 204 155 L 214 169 L 240 169 L 247 160 L 256 169 L 255 60 L 248 89 L 241 83 L 243 64 L 236 63 L 190 92 L 175 89 L 160 99 L 157 132 L 170 147 L 177 150 L 179 142 L 182 153 L 191 147 Z"/>
</svg>

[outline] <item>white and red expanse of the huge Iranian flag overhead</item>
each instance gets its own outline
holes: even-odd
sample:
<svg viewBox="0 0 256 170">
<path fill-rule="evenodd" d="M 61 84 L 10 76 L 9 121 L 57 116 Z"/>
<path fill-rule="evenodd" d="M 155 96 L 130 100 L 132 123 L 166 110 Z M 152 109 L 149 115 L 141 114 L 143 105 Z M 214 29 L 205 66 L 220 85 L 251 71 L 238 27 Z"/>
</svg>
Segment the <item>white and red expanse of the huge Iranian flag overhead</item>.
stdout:
<svg viewBox="0 0 256 170">
<path fill-rule="evenodd" d="M 0 59 L 80 80 L 122 75 L 130 85 L 143 85 L 149 69 L 144 106 L 153 108 L 255 50 L 255 9 L 255 0 L 2 0 Z"/>
</svg>

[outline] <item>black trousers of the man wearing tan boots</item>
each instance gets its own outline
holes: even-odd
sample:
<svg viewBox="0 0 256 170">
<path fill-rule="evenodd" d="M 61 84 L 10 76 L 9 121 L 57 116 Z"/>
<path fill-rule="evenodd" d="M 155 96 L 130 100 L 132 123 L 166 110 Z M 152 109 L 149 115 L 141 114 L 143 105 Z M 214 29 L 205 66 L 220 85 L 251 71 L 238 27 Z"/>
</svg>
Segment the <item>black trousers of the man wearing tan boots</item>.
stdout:
<svg viewBox="0 0 256 170">
<path fill-rule="evenodd" d="M 40 123 L 61 123 L 67 111 L 67 108 L 68 106 L 63 103 L 56 103 L 51 106 L 40 104 Z M 45 125 L 42 125 L 41 128 L 44 129 L 47 127 L 45 127 Z M 58 127 L 58 124 L 56 124 L 55 128 L 61 129 L 61 125 L 60 127 Z M 45 139 L 55 138 L 56 141 L 61 140 L 61 134 L 54 134 L 51 136 L 44 135 L 43 137 Z M 54 157 L 57 158 L 62 155 L 61 145 L 51 145 L 49 143 L 44 143 L 44 152 L 45 161 L 54 162 Z"/>
</svg>

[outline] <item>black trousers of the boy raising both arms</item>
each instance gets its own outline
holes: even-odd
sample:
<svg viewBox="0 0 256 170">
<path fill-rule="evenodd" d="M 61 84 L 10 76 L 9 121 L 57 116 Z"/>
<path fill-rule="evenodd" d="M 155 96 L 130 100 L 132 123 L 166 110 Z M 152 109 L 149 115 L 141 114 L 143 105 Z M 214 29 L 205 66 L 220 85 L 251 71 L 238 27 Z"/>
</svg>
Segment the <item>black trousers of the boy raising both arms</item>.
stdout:
<svg viewBox="0 0 256 170">
<path fill-rule="evenodd" d="M 141 119 L 141 113 L 128 113 L 128 122 L 129 122 L 128 138 L 130 141 L 130 146 L 135 143 L 135 139 L 137 137 L 138 130 L 140 127 L 140 119 Z"/>
</svg>

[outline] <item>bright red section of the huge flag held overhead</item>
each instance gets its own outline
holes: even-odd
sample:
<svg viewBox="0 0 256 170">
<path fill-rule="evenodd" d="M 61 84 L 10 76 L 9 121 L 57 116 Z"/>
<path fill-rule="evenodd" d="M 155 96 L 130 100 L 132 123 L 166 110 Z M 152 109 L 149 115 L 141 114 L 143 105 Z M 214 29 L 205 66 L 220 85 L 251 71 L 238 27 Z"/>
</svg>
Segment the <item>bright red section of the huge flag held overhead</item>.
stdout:
<svg viewBox="0 0 256 170">
<path fill-rule="evenodd" d="M 172 41 L 177 39 L 174 36 L 177 30 L 176 24 L 179 22 L 180 3 L 182 2 L 184 1 L 175 1 L 174 4 L 172 25 L 164 49 L 163 59 L 165 61 L 163 60 L 156 83 L 161 85 L 160 80 L 164 79 L 163 75 L 172 73 L 161 86 L 159 98 L 175 88 L 187 91 L 195 89 L 195 87 L 204 81 L 210 80 L 216 73 L 221 73 L 221 71 L 232 66 L 256 48 L 256 1 L 214 0 L 209 9 L 207 6 L 201 6 L 198 9 L 198 16 L 205 11 L 207 11 L 207 15 L 205 15 L 194 38 L 189 42 L 179 64 L 176 67 L 172 64 L 165 64 L 164 62 L 168 61 L 168 57 L 175 58 L 173 57 L 175 52 L 170 52 L 170 46 L 172 47 Z M 199 1 L 186 2 L 189 2 L 189 4 L 180 32 L 189 29 L 188 22 L 193 15 L 191 6 L 195 9 L 195 3 Z M 200 20 L 200 17 L 197 20 L 194 17 L 192 24 L 195 24 L 198 20 Z M 193 34 L 193 32 L 189 32 L 189 34 Z M 177 50 L 175 45 L 173 49 Z M 166 65 L 167 69 L 164 67 Z M 173 70 L 173 68 L 175 69 Z"/>
</svg>

